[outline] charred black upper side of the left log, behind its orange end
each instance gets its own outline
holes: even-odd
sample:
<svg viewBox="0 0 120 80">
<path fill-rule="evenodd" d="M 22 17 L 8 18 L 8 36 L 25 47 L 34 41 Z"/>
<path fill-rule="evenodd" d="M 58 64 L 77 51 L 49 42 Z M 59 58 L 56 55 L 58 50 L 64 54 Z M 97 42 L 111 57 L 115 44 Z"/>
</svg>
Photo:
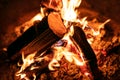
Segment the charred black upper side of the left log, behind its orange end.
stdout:
<svg viewBox="0 0 120 80">
<path fill-rule="evenodd" d="M 42 21 L 38 21 L 37 23 L 35 23 L 8 46 L 7 48 L 8 57 L 11 57 L 15 53 L 19 52 L 21 48 L 25 47 L 34 38 L 36 38 L 39 34 L 43 33 L 48 28 L 49 26 L 47 23 L 47 17 L 43 18 Z"/>
</svg>

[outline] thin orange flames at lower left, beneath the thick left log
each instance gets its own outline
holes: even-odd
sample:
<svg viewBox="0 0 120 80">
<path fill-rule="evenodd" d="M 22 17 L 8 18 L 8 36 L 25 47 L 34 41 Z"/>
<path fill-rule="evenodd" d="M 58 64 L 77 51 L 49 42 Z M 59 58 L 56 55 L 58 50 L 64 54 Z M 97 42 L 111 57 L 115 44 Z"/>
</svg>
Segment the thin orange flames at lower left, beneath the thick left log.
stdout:
<svg viewBox="0 0 120 80">
<path fill-rule="evenodd" d="M 34 53 L 31 53 L 31 54 L 29 54 L 29 55 L 27 55 L 25 57 L 24 56 L 24 52 L 22 53 L 22 61 L 23 61 L 23 63 L 22 64 L 18 63 L 18 66 L 20 66 L 21 68 L 16 73 L 16 76 L 19 76 L 20 79 L 30 80 L 26 76 L 26 74 L 24 73 L 25 69 L 28 68 L 34 62 L 41 62 L 43 60 L 46 60 L 46 61 L 49 60 L 49 56 L 41 57 L 44 54 L 44 52 L 41 55 L 37 56 L 37 57 L 35 56 L 36 54 L 37 54 L 37 52 L 34 52 Z M 34 70 L 34 69 L 38 69 L 38 68 L 39 68 L 38 66 L 32 65 L 29 70 Z M 32 76 L 33 76 L 33 80 L 35 80 L 36 79 L 36 75 L 33 73 Z"/>
</svg>

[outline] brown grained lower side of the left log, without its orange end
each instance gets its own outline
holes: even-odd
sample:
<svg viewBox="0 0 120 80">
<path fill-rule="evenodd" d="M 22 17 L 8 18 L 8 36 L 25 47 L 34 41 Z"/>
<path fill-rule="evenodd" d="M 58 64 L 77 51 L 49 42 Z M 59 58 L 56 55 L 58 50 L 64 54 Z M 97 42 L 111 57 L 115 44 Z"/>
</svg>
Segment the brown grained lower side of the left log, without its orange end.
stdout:
<svg viewBox="0 0 120 80">
<path fill-rule="evenodd" d="M 31 41 L 27 46 L 25 46 L 21 52 L 24 54 L 30 54 L 37 51 L 38 53 L 42 53 L 51 47 L 56 41 L 60 38 L 56 36 L 51 29 L 46 29 L 43 33 L 41 33 L 38 37 L 36 37 L 33 41 Z"/>
</svg>

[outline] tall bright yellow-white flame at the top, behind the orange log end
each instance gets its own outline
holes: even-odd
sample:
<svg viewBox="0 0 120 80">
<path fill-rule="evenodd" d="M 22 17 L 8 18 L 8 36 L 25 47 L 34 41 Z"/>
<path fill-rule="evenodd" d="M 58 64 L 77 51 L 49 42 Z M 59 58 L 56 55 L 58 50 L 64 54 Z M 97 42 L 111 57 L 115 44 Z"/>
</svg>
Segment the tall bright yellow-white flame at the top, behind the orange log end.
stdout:
<svg viewBox="0 0 120 80">
<path fill-rule="evenodd" d="M 77 19 L 77 11 L 75 8 L 79 7 L 81 0 L 62 0 L 62 3 L 61 17 L 64 19 L 64 23 L 68 21 L 75 22 Z"/>
</svg>

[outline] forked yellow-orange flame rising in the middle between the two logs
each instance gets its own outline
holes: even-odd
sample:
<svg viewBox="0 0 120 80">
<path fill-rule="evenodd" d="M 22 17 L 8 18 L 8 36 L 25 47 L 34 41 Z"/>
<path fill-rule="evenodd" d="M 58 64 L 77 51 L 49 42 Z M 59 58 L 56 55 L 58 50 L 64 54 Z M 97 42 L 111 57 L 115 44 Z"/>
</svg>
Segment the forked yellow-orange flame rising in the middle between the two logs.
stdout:
<svg viewBox="0 0 120 80">
<path fill-rule="evenodd" d="M 50 70 L 55 70 L 54 67 L 59 67 L 60 64 L 58 61 L 60 61 L 63 57 L 65 57 L 65 59 L 67 61 L 69 61 L 70 63 L 74 63 L 78 66 L 83 66 L 85 63 L 82 61 L 82 59 L 77 55 L 80 54 L 79 51 L 77 51 L 76 49 L 76 52 L 77 53 L 74 53 L 74 52 L 71 52 L 71 45 L 73 47 L 75 47 L 75 45 L 73 44 L 72 40 L 70 39 L 70 36 L 73 36 L 74 34 L 74 29 L 73 29 L 73 26 L 70 27 L 70 31 L 68 31 L 67 34 L 64 35 L 64 37 L 62 38 L 62 40 L 65 40 L 67 41 L 67 45 L 64 47 L 64 46 L 53 46 L 53 49 L 54 49 L 54 57 L 52 59 L 52 61 L 49 63 L 49 69 Z"/>
</svg>

